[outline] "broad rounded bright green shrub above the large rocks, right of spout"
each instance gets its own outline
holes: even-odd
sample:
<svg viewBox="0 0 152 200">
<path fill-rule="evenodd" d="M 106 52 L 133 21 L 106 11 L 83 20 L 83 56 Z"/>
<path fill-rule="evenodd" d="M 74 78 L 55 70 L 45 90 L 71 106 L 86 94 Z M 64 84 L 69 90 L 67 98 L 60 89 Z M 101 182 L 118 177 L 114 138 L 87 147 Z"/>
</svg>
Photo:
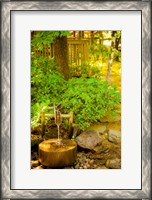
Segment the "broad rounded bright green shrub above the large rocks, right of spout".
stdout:
<svg viewBox="0 0 152 200">
<path fill-rule="evenodd" d="M 62 94 L 63 111 L 74 112 L 74 122 L 84 130 L 107 114 L 115 115 L 120 94 L 114 85 L 97 78 L 72 78 Z"/>
</svg>

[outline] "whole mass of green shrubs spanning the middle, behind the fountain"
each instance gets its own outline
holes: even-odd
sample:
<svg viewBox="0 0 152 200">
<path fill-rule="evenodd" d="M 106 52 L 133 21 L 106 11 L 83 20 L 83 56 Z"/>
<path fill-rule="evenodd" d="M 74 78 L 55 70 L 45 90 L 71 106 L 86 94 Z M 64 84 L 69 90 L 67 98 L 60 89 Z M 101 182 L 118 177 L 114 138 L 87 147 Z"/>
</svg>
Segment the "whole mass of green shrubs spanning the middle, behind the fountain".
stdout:
<svg viewBox="0 0 152 200">
<path fill-rule="evenodd" d="M 116 87 L 101 81 L 101 78 L 85 78 L 85 71 L 81 74 L 83 77 L 66 81 L 53 59 L 37 57 L 32 59 L 31 74 L 32 128 L 40 125 L 42 108 L 54 103 L 62 104 L 62 113 L 73 111 L 74 123 L 82 130 L 107 114 L 115 115 L 117 111 L 120 93 Z"/>
</svg>

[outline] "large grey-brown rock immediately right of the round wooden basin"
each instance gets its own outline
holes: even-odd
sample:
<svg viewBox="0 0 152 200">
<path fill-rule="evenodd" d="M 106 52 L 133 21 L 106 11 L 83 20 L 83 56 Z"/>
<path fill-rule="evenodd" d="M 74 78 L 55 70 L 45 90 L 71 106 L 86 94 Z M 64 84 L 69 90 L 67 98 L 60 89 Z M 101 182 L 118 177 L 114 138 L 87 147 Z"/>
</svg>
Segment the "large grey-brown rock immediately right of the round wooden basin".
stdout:
<svg viewBox="0 0 152 200">
<path fill-rule="evenodd" d="M 97 145 L 101 144 L 102 137 L 98 131 L 87 130 L 76 137 L 76 142 L 81 148 L 94 150 Z"/>
</svg>

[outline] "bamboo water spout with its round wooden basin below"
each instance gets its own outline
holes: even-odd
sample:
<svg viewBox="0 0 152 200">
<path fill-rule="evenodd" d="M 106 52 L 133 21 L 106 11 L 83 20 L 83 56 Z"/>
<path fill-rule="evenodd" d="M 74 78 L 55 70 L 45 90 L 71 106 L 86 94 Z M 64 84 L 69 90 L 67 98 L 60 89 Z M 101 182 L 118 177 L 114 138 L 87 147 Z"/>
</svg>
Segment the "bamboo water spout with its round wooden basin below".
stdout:
<svg viewBox="0 0 152 200">
<path fill-rule="evenodd" d="M 58 128 L 58 137 L 44 140 L 39 144 L 39 162 L 50 168 L 60 168 L 73 165 L 76 159 L 77 144 L 74 140 L 60 138 L 60 125 L 62 123 L 62 118 L 69 119 L 70 130 L 73 123 L 73 113 L 61 114 L 55 105 L 54 114 L 46 114 L 43 109 L 41 114 L 42 132 L 44 132 L 45 117 L 54 118 L 55 124 Z"/>
</svg>

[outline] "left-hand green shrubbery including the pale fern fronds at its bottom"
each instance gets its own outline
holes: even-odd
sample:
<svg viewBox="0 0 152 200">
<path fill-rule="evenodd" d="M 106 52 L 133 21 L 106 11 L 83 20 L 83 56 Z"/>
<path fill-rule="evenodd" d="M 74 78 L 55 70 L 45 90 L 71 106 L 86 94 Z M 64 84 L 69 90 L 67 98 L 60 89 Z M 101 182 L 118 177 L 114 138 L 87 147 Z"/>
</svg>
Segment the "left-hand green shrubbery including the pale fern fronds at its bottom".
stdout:
<svg viewBox="0 0 152 200">
<path fill-rule="evenodd" d="M 31 128 L 40 125 L 42 108 L 60 102 L 65 80 L 54 59 L 32 57 L 31 66 Z M 46 109 L 47 111 L 47 109 Z M 49 111 L 50 112 L 50 111 Z"/>
</svg>

